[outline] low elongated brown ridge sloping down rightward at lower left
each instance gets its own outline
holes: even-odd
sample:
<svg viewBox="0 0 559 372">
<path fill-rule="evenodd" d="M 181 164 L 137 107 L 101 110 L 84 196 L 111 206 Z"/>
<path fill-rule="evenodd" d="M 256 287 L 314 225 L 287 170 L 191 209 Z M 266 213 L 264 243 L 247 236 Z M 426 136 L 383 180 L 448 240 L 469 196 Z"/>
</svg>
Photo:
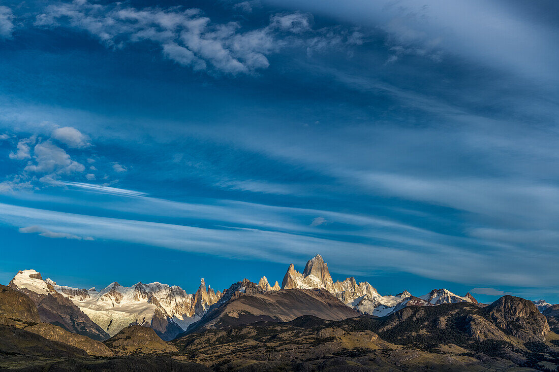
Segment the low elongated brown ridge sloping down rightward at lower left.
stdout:
<svg viewBox="0 0 559 372">
<path fill-rule="evenodd" d="M 87 336 L 76 335 L 75 333 L 63 330 L 63 328 L 49 323 L 37 323 L 34 326 L 25 328 L 26 331 L 36 333 L 48 340 L 62 342 L 70 346 L 77 347 L 93 356 L 113 356 L 113 352 L 102 342 L 94 341 Z"/>
</svg>

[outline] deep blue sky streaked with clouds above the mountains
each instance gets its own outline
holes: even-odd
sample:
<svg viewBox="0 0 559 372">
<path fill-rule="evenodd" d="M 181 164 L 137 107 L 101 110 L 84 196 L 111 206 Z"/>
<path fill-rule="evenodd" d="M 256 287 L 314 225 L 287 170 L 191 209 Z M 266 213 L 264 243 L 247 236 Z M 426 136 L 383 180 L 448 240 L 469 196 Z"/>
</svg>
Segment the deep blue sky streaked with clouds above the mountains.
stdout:
<svg viewBox="0 0 559 372">
<path fill-rule="evenodd" d="M 552 0 L 2 1 L 0 283 L 194 292 L 321 254 L 559 302 Z"/>
</svg>

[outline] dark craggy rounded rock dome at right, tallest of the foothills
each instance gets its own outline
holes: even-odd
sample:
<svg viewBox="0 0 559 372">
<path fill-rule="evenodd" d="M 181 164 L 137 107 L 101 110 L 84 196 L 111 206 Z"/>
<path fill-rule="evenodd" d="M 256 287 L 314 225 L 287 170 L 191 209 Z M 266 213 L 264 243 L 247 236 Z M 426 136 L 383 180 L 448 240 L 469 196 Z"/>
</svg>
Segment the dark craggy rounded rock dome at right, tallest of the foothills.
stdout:
<svg viewBox="0 0 559 372">
<path fill-rule="evenodd" d="M 546 317 L 531 301 L 503 296 L 481 309 L 505 333 L 524 341 L 542 341 L 549 333 Z"/>
</svg>

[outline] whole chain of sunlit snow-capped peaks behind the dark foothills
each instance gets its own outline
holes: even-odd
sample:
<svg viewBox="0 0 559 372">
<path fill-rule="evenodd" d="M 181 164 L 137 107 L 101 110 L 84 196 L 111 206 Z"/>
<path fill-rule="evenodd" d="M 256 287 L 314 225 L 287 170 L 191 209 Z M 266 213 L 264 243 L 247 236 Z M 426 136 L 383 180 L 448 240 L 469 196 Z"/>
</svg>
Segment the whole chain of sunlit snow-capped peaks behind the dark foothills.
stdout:
<svg viewBox="0 0 559 372">
<path fill-rule="evenodd" d="M 9 286 L 35 302 L 41 321 L 94 340 L 105 340 L 131 325 L 153 328 L 163 340 L 172 340 L 185 331 L 212 327 L 214 323 L 222 322 L 223 317 L 240 322 L 247 312 L 226 304 L 243 295 L 262 295 L 266 301 L 275 303 L 276 308 L 283 308 L 283 314 L 271 314 L 269 308 L 251 314 L 253 318 L 266 321 L 286 321 L 291 315 L 291 318 L 300 316 L 303 313 L 289 314 L 289 304 L 295 302 L 314 306 L 307 308 L 305 313 L 320 315 L 326 312 L 331 319 L 359 313 L 385 317 L 408 306 L 437 306 L 443 303 L 465 302 L 477 307 L 485 306 L 470 293 L 462 297 L 447 289 L 433 289 L 419 297 L 406 290 L 396 295 L 381 295 L 371 284 L 357 283 L 353 277 L 334 282 L 328 265 L 320 255 L 309 260 L 302 273 L 291 264 L 281 287 L 278 282 L 271 285 L 263 276 L 258 284 L 244 279 L 223 292 L 210 287 L 206 289 L 203 279 L 193 294 L 186 293 L 177 285 L 158 282 L 139 282 L 131 287 L 113 282 L 102 290 L 78 289 L 42 279 L 35 270 L 19 271 Z M 295 291 L 285 291 L 290 289 Z M 276 292 L 277 295 L 273 294 Z M 236 306 L 239 304 L 237 302 Z M 536 304 L 540 311 L 551 306 L 543 300 Z M 335 312 L 331 313 L 333 307 Z M 254 310 L 252 304 L 250 308 Z"/>
</svg>

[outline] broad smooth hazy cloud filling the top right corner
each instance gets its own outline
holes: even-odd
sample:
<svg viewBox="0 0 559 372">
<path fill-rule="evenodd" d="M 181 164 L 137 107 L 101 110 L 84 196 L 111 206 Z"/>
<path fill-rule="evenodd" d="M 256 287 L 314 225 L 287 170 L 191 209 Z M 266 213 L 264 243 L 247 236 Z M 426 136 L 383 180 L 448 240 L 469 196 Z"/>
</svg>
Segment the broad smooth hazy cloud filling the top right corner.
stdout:
<svg viewBox="0 0 559 372">
<path fill-rule="evenodd" d="M 557 82 L 556 23 L 550 25 L 541 22 L 541 16 L 533 16 L 538 11 L 548 12 L 553 7 L 551 2 L 541 3 L 539 9 L 529 4 L 482 0 L 444 3 L 309 0 L 304 4 L 297 0 L 264 0 L 264 3 L 304 8 L 339 22 L 375 27 L 386 32 L 389 47 L 399 47 L 404 54 L 437 60 L 442 51 L 482 66 L 512 71 L 521 78 L 537 78 L 538 84 L 546 84 L 546 78 L 551 84 Z"/>
</svg>

